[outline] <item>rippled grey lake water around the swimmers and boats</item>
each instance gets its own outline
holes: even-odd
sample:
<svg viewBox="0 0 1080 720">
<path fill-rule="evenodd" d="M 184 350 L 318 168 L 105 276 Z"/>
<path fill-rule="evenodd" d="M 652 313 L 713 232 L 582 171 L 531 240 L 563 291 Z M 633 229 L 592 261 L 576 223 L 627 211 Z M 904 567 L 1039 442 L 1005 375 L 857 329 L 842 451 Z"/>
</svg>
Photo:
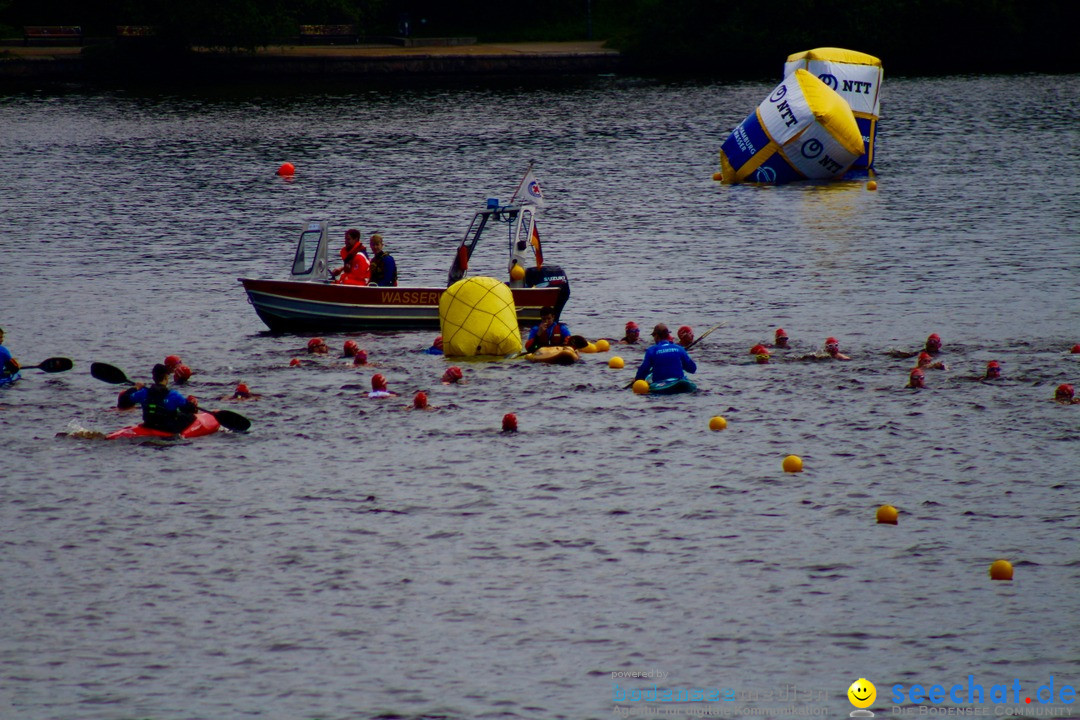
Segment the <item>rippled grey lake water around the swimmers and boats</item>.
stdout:
<svg viewBox="0 0 1080 720">
<path fill-rule="evenodd" d="M 713 182 L 769 90 L 0 98 L 0 326 L 24 364 L 77 363 L 0 390 L 0 716 L 604 718 L 613 682 L 649 687 L 612 680 L 632 670 L 737 690 L 681 707 L 737 716 L 788 717 L 765 693 L 797 685 L 839 717 L 859 677 L 879 715 L 896 683 L 1076 687 L 1080 407 L 1051 397 L 1080 382 L 1078 78 L 887 80 L 876 192 Z M 726 323 L 700 393 L 622 391 L 639 349 L 445 386 L 431 332 L 329 336 L 402 393 L 368 400 L 373 370 L 289 368 L 307 338 L 266 332 L 235 282 L 285 276 L 328 218 L 437 283 L 529 160 L 571 329 Z M 777 326 L 795 350 L 752 364 Z M 949 368 L 906 390 L 889 351 L 932 331 Z M 829 335 L 852 362 L 794 359 Z M 171 353 L 205 406 L 260 393 L 219 403 L 253 431 L 82 436 L 133 420 L 91 362 Z M 975 380 L 989 359 L 1004 380 Z M 417 390 L 435 410 L 405 410 Z"/>
</svg>

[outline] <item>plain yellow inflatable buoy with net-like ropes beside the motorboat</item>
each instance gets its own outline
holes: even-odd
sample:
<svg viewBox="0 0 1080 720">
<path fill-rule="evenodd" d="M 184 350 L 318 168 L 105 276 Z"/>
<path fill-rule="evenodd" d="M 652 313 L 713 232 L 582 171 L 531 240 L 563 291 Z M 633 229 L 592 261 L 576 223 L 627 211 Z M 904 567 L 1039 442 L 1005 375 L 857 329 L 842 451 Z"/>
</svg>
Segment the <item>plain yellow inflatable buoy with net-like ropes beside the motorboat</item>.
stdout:
<svg viewBox="0 0 1080 720">
<path fill-rule="evenodd" d="M 446 288 L 438 299 L 438 322 L 447 357 L 522 351 L 514 295 L 495 277 L 470 277 Z"/>
</svg>

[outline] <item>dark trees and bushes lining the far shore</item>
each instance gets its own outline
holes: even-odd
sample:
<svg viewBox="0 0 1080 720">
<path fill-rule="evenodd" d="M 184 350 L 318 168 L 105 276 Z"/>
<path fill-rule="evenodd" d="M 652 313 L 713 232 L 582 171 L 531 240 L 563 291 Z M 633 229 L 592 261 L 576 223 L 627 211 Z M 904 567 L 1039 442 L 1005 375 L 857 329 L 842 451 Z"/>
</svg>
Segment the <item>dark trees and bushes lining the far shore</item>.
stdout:
<svg viewBox="0 0 1080 720">
<path fill-rule="evenodd" d="M 1075 0 L 0 0 L 0 32 L 79 25 L 87 37 L 152 26 L 154 46 L 231 51 L 294 42 L 305 24 L 365 38 L 480 42 L 597 39 L 636 69 L 774 77 L 794 52 L 836 46 L 891 74 L 1075 72 Z"/>
</svg>

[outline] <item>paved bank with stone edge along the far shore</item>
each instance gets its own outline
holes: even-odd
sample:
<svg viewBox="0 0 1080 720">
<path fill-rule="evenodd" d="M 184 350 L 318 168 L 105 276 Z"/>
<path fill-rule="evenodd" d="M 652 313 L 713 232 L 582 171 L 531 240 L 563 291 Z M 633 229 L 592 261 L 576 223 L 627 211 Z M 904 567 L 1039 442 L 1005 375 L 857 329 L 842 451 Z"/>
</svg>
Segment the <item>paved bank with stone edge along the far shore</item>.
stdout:
<svg viewBox="0 0 1080 720">
<path fill-rule="evenodd" d="M 177 80 L 419 78 L 496 74 L 594 74 L 618 71 L 621 54 L 604 41 L 429 45 L 270 45 L 255 52 L 195 51 L 162 68 Z M 132 73 L 85 46 L 0 49 L 0 82 L 95 81 Z M 141 70 L 143 76 L 146 69 Z"/>
</svg>

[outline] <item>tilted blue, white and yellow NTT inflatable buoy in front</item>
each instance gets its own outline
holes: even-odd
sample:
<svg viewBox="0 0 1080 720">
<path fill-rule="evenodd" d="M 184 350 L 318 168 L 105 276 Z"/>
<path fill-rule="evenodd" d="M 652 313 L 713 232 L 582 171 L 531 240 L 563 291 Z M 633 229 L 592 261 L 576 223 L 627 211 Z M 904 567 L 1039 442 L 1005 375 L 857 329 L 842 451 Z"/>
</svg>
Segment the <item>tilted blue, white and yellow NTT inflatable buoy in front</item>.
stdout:
<svg viewBox="0 0 1080 720">
<path fill-rule="evenodd" d="M 767 185 L 839 178 L 862 152 L 845 99 L 798 69 L 720 146 L 720 175 L 724 182 Z"/>
</svg>

